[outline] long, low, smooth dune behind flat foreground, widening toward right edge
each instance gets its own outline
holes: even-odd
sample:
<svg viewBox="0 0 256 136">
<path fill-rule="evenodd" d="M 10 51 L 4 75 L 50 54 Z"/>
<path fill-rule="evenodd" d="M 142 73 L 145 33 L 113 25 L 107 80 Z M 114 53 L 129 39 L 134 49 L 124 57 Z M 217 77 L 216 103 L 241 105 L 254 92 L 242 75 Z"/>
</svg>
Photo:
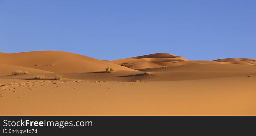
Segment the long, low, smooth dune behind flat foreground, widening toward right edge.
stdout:
<svg viewBox="0 0 256 136">
<path fill-rule="evenodd" d="M 153 76 L 144 75 L 152 72 Z M 140 71 L 118 71 L 114 73 L 67 73 L 66 78 L 91 81 L 174 81 L 209 79 L 256 74 L 254 65 L 193 64 L 171 67 L 140 69 Z"/>
</svg>

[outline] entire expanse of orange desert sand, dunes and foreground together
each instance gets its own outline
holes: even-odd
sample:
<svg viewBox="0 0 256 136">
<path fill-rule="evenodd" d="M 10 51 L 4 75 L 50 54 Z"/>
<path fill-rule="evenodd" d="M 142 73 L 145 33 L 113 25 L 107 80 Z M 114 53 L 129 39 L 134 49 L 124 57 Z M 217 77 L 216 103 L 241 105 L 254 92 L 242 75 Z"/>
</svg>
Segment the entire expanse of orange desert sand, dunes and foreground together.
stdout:
<svg viewBox="0 0 256 136">
<path fill-rule="evenodd" d="M 256 115 L 255 59 L 150 54 L 106 61 L 57 51 L 0 58 L 0 115 Z"/>
</svg>

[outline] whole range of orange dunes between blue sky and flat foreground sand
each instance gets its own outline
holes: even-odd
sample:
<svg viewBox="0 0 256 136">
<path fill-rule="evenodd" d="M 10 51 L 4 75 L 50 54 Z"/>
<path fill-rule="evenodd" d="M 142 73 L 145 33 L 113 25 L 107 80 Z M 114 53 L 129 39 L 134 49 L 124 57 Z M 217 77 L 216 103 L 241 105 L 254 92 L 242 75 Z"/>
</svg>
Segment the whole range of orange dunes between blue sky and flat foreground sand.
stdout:
<svg viewBox="0 0 256 136">
<path fill-rule="evenodd" d="M 256 74 L 256 62 L 248 58 L 194 61 L 157 53 L 108 61 L 58 51 L 3 53 L 0 57 L 0 75 L 12 79 L 32 79 L 35 74 L 42 73 L 45 79 L 53 79 L 55 73 L 61 73 L 65 79 L 93 81 L 174 81 Z M 104 73 L 108 66 L 117 71 Z M 29 74 L 10 76 L 15 70 L 29 71 Z M 146 71 L 153 72 L 154 76 L 143 75 Z"/>
</svg>

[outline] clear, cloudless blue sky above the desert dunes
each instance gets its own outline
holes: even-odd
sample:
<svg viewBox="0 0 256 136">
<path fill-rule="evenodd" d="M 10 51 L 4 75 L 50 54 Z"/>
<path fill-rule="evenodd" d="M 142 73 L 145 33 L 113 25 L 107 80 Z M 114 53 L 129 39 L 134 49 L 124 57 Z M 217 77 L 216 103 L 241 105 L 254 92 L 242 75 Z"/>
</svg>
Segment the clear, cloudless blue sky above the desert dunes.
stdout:
<svg viewBox="0 0 256 136">
<path fill-rule="evenodd" d="M 0 52 L 256 58 L 255 0 L 0 0 Z"/>
</svg>

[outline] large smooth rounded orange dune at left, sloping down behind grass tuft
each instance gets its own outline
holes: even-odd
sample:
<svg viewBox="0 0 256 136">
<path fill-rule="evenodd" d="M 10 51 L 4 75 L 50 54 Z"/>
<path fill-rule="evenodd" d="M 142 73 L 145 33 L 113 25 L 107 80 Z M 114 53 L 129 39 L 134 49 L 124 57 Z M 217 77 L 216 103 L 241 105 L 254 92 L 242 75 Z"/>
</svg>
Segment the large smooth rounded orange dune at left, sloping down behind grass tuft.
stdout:
<svg viewBox="0 0 256 136">
<path fill-rule="evenodd" d="M 136 71 L 95 58 L 60 51 L 0 54 L 0 57 L 1 64 L 41 69 L 55 73 L 104 71 L 106 67 L 113 67 L 115 70 Z"/>
</svg>

